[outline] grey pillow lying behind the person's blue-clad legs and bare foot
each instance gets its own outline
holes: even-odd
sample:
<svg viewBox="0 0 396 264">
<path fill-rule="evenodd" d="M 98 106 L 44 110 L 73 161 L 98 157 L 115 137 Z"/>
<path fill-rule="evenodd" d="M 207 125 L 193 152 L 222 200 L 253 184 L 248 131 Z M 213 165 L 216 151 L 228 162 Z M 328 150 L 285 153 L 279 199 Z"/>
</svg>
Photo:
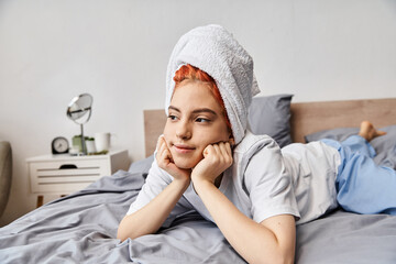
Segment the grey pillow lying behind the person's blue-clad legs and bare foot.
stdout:
<svg viewBox="0 0 396 264">
<path fill-rule="evenodd" d="M 375 138 L 370 143 L 374 147 L 377 155 L 374 162 L 378 165 L 392 167 L 396 169 L 396 125 L 381 128 L 378 130 L 385 131 L 386 135 Z M 306 135 L 307 142 L 318 141 L 321 139 L 331 139 L 337 141 L 344 141 L 348 136 L 358 134 L 359 128 L 342 128 L 323 130 L 309 135 Z"/>
</svg>

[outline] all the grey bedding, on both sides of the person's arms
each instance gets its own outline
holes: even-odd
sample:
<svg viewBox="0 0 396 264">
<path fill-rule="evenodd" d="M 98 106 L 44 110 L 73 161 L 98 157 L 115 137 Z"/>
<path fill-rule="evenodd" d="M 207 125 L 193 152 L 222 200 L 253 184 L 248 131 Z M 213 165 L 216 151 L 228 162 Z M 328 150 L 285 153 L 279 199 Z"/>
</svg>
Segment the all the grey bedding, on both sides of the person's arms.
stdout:
<svg viewBox="0 0 396 264">
<path fill-rule="evenodd" d="M 151 161 L 102 177 L 1 228 L 0 262 L 245 263 L 213 223 L 194 212 L 158 234 L 116 239 Z M 396 263 L 396 217 L 337 210 L 300 224 L 295 263 Z"/>
</svg>

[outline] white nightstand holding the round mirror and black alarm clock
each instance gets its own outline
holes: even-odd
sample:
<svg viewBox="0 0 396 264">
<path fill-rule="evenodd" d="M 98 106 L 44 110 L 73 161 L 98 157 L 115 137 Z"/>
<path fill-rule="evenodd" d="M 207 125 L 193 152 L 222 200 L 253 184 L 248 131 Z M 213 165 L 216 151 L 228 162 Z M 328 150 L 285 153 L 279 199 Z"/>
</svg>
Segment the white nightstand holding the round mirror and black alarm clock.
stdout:
<svg viewBox="0 0 396 264">
<path fill-rule="evenodd" d="M 43 155 L 26 162 L 32 193 L 38 195 L 37 207 L 43 205 L 44 195 L 69 195 L 129 166 L 128 151 L 90 156 Z"/>
</svg>

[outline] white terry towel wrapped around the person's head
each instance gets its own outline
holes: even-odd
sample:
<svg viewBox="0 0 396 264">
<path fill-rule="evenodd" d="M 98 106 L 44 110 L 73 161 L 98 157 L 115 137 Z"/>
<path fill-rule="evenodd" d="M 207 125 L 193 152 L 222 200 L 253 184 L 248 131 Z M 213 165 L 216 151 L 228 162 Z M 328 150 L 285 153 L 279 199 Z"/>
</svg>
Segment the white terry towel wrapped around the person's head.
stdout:
<svg viewBox="0 0 396 264">
<path fill-rule="evenodd" d="M 252 57 L 220 25 L 210 24 L 187 32 L 177 42 L 168 63 L 166 113 L 175 88 L 173 78 L 176 70 L 186 64 L 206 72 L 216 80 L 238 144 L 245 134 L 252 97 L 260 92 Z"/>
</svg>

